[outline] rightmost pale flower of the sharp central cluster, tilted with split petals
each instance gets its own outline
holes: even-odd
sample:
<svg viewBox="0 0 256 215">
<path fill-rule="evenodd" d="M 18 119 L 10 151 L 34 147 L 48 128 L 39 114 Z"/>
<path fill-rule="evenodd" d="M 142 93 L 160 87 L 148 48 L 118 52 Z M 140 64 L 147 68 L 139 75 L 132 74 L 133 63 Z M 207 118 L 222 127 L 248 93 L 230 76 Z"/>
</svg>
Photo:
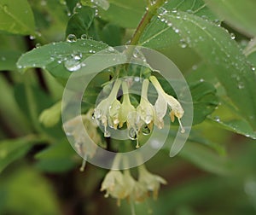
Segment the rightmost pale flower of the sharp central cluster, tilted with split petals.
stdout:
<svg viewBox="0 0 256 215">
<path fill-rule="evenodd" d="M 171 108 L 170 117 L 171 121 L 174 121 L 174 118 L 177 117 L 178 123 L 181 127 L 181 132 L 184 132 L 183 125 L 181 123 L 181 118 L 183 117 L 183 108 L 177 99 L 173 96 L 166 94 L 166 92 L 161 87 L 159 81 L 154 76 L 149 77 L 151 83 L 154 85 L 155 90 L 158 93 L 158 99 L 155 102 L 154 109 L 156 113 L 157 121 L 160 122 L 159 126 L 162 125 L 163 117 L 166 114 L 166 108 L 169 106 Z M 165 113 L 165 114 L 164 114 Z"/>
</svg>

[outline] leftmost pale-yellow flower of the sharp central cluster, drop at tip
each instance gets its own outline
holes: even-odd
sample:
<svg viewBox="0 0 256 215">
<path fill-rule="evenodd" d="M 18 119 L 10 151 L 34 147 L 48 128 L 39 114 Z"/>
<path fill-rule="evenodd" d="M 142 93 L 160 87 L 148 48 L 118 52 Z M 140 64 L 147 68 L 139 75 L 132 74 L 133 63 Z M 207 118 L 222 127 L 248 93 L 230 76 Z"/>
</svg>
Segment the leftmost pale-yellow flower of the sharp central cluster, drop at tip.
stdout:
<svg viewBox="0 0 256 215">
<path fill-rule="evenodd" d="M 111 90 L 109 96 L 100 102 L 94 111 L 95 119 L 102 122 L 104 126 L 104 136 L 110 137 L 110 133 L 107 130 L 108 125 L 117 129 L 119 125 L 119 112 L 121 108 L 120 102 L 117 100 L 116 96 L 119 91 L 121 81 L 117 79 L 113 84 L 113 89 Z"/>
</svg>

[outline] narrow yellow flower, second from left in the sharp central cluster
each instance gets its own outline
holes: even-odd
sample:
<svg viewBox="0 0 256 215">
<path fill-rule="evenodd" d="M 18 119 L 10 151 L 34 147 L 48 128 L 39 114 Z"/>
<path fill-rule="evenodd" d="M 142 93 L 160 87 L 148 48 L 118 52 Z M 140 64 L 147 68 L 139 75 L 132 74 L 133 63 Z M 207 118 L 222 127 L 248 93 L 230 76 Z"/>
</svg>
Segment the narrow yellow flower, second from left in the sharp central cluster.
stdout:
<svg viewBox="0 0 256 215">
<path fill-rule="evenodd" d="M 135 112 L 135 108 L 131 105 L 129 91 L 128 91 L 128 84 L 123 81 L 122 83 L 122 90 L 123 90 L 123 102 L 121 105 L 121 110 L 119 114 L 119 127 L 121 128 L 124 123 L 128 119 L 129 113 Z M 129 121 L 129 120 L 128 120 Z M 131 123 L 127 123 L 128 129 L 130 128 Z"/>
</svg>

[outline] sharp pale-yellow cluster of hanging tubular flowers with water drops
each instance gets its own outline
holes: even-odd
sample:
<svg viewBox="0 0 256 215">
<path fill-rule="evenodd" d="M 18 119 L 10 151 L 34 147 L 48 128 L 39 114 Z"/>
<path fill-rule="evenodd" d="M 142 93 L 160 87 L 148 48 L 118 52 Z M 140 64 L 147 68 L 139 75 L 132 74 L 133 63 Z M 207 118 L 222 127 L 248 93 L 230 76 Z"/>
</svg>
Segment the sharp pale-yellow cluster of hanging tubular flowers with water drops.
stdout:
<svg viewBox="0 0 256 215">
<path fill-rule="evenodd" d="M 149 81 L 154 85 L 158 93 L 158 98 L 154 105 L 148 101 L 148 84 Z M 117 99 L 119 88 L 122 88 L 122 103 Z M 129 84 L 125 80 L 116 79 L 109 96 L 100 102 L 94 111 L 94 118 L 104 126 L 104 136 L 110 137 L 108 126 L 113 129 L 121 128 L 125 123 L 128 128 L 128 136 L 132 140 L 137 140 L 141 133 L 147 135 L 152 131 L 153 125 L 162 129 L 164 127 L 164 116 L 167 108 L 171 109 L 170 117 L 172 122 L 177 117 L 181 132 L 184 132 L 180 119 L 183 117 L 183 108 L 173 96 L 166 94 L 162 89 L 159 81 L 154 76 L 143 80 L 141 99 L 135 108 L 129 97 Z"/>
</svg>

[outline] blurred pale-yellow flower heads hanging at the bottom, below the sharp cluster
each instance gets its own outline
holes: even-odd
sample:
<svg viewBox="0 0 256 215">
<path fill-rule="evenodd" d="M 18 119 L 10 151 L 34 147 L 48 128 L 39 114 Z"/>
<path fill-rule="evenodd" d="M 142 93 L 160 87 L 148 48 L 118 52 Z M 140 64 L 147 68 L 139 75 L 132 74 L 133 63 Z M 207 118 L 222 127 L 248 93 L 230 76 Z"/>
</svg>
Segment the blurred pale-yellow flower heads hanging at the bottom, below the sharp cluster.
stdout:
<svg viewBox="0 0 256 215">
<path fill-rule="evenodd" d="M 156 199 L 160 184 L 166 184 L 166 180 L 150 173 L 144 165 L 139 166 L 138 173 L 138 180 L 135 180 L 129 170 L 124 172 L 111 170 L 102 182 L 101 191 L 106 190 L 105 197 L 110 195 L 117 199 L 118 206 L 120 205 L 120 200 L 124 199 L 132 202 L 143 202 L 151 192 L 154 199 Z"/>
</svg>

